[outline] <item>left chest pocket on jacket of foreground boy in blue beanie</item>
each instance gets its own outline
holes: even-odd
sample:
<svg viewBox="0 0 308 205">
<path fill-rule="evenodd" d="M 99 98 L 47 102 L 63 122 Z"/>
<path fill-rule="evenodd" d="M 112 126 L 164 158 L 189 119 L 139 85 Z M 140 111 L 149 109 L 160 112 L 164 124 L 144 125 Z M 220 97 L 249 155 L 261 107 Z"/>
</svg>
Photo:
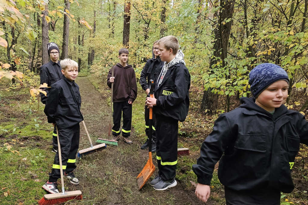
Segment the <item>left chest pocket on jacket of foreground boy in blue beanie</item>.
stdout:
<svg viewBox="0 0 308 205">
<path fill-rule="evenodd" d="M 234 147 L 241 150 L 266 152 L 265 135 L 238 135 Z"/>
</svg>

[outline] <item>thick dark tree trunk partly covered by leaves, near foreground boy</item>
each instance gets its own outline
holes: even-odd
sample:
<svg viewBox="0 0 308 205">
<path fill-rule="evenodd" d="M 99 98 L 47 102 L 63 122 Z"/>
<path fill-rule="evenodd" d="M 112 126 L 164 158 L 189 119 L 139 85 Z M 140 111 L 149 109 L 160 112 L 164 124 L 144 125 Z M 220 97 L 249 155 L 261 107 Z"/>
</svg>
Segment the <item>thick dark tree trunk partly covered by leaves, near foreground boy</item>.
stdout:
<svg viewBox="0 0 308 205">
<path fill-rule="evenodd" d="M 222 22 L 226 18 L 231 18 L 234 12 L 234 1 L 233 0 L 221 0 L 221 9 L 217 15 L 217 28 L 214 28 L 215 42 L 213 46 L 213 56 L 214 58 L 210 59 L 209 68 L 212 69 L 213 66 L 217 63 L 217 57 L 220 57 L 222 60 L 222 67 L 225 67 L 225 58 L 227 58 L 227 51 L 229 45 L 229 37 L 232 26 L 232 20 L 229 22 Z M 203 98 L 201 102 L 200 111 L 208 111 L 213 113 L 217 109 L 218 105 L 218 94 L 212 92 L 213 89 L 205 90 L 203 93 Z"/>
</svg>

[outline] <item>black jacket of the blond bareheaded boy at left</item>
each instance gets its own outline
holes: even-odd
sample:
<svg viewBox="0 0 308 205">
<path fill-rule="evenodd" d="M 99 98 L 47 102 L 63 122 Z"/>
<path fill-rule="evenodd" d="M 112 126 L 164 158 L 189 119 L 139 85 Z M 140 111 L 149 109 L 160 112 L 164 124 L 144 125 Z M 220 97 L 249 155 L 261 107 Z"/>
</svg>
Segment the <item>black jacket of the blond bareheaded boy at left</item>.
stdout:
<svg viewBox="0 0 308 205">
<path fill-rule="evenodd" d="M 83 121 L 80 106 L 79 86 L 64 77 L 51 85 L 44 112 L 48 123 L 56 123 L 62 129 Z"/>
</svg>

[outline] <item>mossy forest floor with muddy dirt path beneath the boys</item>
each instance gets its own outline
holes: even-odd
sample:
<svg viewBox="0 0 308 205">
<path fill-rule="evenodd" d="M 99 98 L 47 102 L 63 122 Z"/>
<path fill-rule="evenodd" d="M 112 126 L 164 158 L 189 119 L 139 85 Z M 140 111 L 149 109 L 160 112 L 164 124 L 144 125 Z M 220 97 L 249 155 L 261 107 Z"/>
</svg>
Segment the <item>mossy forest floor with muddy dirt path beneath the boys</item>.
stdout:
<svg viewBox="0 0 308 205">
<path fill-rule="evenodd" d="M 95 142 L 98 137 L 107 138 L 110 89 L 94 76 L 78 77 L 76 82 L 82 97 L 81 111 L 92 141 Z M 190 111 L 187 120 L 179 124 L 178 147 L 189 147 L 190 155 L 178 157 L 176 187 L 155 191 L 147 182 L 138 190 L 136 177 L 148 160 L 148 151 L 140 149 L 146 139 L 145 97 L 138 84 L 130 137 L 133 144 L 128 145 L 120 139 L 117 147 L 107 146 L 102 151 L 77 159 L 75 175 L 80 184 L 72 185 L 65 180 L 65 187 L 67 191 L 81 190 L 83 200 L 65 204 L 204 204 L 194 194 L 197 177 L 191 166 L 196 163 L 201 143 L 212 130 L 218 115 Z M 47 123 L 43 104 L 37 102 L 29 108 L 29 98 L 28 91 L 0 91 L 0 202 L 3 205 L 35 204 L 46 194 L 41 186 L 48 180 L 54 158 L 51 152 L 52 126 Z M 87 147 L 90 145 L 81 124 L 79 148 Z M 155 153 L 152 157 L 156 165 Z M 307 161 L 304 158 L 300 163 L 300 160 L 294 173 L 296 189 L 286 196 L 282 194 L 282 202 L 308 204 Z M 156 168 L 151 179 L 157 171 Z M 206 204 L 224 205 L 224 191 L 217 179 L 217 166 L 211 185 L 211 196 Z"/>
</svg>

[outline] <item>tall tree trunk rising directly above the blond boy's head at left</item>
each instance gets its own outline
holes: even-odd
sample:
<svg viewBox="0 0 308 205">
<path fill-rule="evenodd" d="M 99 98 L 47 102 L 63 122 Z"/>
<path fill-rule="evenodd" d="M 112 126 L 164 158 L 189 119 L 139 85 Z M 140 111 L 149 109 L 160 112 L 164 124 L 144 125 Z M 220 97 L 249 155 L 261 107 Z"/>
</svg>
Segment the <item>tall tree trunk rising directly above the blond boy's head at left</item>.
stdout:
<svg viewBox="0 0 308 205">
<path fill-rule="evenodd" d="M 70 1 L 64 0 L 65 3 L 65 9 L 70 10 Z M 63 41 L 62 41 L 62 54 L 61 54 L 61 60 L 67 58 L 68 54 L 68 37 L 69 37 L 69 31 L 70 31 L 70 19 L 67 15 L 64 15 L 63 20 Z"/>
</svg>

